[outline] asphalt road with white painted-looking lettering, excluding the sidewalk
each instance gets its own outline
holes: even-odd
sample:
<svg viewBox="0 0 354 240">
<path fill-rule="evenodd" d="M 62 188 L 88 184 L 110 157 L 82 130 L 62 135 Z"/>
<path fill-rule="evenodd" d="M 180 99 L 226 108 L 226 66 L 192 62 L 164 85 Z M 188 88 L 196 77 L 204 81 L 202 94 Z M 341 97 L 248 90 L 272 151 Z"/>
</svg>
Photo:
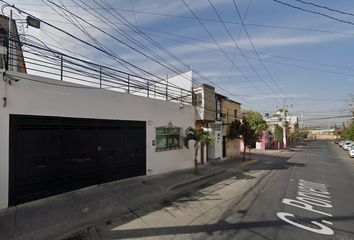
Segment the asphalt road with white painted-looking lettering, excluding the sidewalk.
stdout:
<svg viewBox="0 0 354 240">
<path fill-rule="evenodd" d="M 87 231 L 97 239 L 354 240 L 347 152 L 313 140 L 252 159 L 259 162 L 223 164 L 224 174 Z"/>
</svg>

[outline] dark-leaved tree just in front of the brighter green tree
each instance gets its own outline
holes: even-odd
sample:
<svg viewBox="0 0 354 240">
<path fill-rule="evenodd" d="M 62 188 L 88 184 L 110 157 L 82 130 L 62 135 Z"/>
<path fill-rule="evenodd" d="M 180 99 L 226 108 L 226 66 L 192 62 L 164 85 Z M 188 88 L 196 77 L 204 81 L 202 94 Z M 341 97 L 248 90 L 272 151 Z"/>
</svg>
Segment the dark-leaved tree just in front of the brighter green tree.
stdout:
<svg viewBox="0 0 354 240">
<path fill-rule="evenodd" d="M 251 159 L 251 147 L 257 142 L 258 136 L 255 130 L 252 129 L 251 124 L 249 124 L 245 118 L 242 119 L 242 122 L 237 119 L 231 122 L 228 137 L 231 140 L 238 138 L 243 141 L 244 148 L 242 161 L 245 161 L 246 147 L 249 149 L 249 159 Z"/>
</svg>

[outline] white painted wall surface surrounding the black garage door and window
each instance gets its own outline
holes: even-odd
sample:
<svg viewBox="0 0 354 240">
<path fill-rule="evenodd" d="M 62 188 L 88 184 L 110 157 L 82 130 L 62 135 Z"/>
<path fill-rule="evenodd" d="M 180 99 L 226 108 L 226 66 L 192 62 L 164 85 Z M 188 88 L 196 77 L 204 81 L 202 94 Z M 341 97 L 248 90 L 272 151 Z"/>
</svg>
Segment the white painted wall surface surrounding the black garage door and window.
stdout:
<svg viewBox="0 0 354 240">
<path fill-rule="evenodd" d="M 183 148 L 164 152 L 155 152 L 155 147 L 151 145 L 156 127 L 165 126 L 170 121 L 183 130 L 194 126 L 193 106 L 186 105 L 181 109 L 178 103 L 92 89 L 17 72 L 7 72 L 6 76 L 20 81 L 12 81 L 11 85 L 0 81 L 1 100 L 4 97 L 7 99 L 6 107 L 0 108 L 0 208 L 8 206 L 10 114 L 139 120 L 146 123 L 151 120 L 153 124 L 146 125 L 147 169 L 152 170 L 149 175 L 194 166 L 193 142 L 190 142 L 189 150 Z"/>
</svg>

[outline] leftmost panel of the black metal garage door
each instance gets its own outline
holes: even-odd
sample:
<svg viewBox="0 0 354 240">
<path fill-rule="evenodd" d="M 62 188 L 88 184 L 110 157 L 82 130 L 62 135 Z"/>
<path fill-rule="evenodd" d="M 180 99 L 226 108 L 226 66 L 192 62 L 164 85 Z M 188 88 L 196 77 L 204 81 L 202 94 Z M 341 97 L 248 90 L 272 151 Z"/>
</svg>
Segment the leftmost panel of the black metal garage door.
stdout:
<svg viewBox="0 0 354 240">
<path fill-rule="evenodd" d="M 61 132 L 16 134 L 16 204 L 61 193 Z"/>
</svg>

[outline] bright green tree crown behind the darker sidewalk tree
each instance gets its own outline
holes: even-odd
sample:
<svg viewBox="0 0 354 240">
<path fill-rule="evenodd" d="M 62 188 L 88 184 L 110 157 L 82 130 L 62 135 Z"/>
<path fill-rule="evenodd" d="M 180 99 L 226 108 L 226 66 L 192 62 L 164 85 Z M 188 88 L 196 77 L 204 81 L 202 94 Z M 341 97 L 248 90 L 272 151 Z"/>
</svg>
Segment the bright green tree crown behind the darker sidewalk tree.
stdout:
<svg viewBox="0 0 354 240">
<path fill-rule="evenodd" d="M 262 114 L 254 110 L 246 110 L 242 111 L 242 113 L 244 114 L 244 119 L 246 119 L 247 123 L 255 131 L 257 138 L 255 142 L 260 141 L 263 136 L 263 131 L 269 128 L 267 122 L 263 119 Z"/>
</svg>

